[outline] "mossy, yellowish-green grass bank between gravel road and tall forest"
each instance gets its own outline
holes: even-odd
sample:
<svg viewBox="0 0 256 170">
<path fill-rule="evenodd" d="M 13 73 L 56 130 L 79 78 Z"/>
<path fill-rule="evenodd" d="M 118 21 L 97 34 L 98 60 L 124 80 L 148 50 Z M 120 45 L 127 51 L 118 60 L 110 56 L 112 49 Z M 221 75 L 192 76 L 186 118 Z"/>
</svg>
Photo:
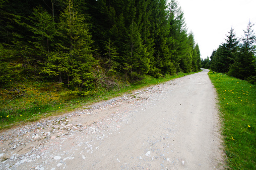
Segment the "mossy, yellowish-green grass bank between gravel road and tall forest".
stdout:
<svg viewBox="0 0 256 170">
<path fill-rule="evenodd" d="M 191 72 L 189 74 L 194 74 Z M 77 96 L 58 83 L 39 81 L 13 82 L 12 89 L 0 89 L 0 130 L 35 121 L 52 115 L 61 115 L 81 106 L 101 100 L 108 100 L 132 90 L 166 82 L 188 75 L 178 73 L 161 78 L 146 76 L 142 81 L 130 85 L 121 85 L 119 89 L 95 89 L 86 96 Z"/>
</svg>

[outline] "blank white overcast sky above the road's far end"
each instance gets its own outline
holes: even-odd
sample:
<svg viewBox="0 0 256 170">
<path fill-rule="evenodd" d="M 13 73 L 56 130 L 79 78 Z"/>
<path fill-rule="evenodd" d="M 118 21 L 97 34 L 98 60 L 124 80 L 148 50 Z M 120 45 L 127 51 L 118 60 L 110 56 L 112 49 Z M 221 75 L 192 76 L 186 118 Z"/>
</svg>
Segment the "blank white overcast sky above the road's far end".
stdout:
<svg viewBox="0 0 256 170">
<path fill-rule="evenodd" d="M 201 58 L 211 56 L 225 35 L 234 28 L 236 37 L 243 35 L 247 24 L 256 23 L 256 0 L 177 0 L 184 12 L 188 32 L 199 45 Z M 253 27 L 256 32 L 256 24 Z"/>
</svg>

